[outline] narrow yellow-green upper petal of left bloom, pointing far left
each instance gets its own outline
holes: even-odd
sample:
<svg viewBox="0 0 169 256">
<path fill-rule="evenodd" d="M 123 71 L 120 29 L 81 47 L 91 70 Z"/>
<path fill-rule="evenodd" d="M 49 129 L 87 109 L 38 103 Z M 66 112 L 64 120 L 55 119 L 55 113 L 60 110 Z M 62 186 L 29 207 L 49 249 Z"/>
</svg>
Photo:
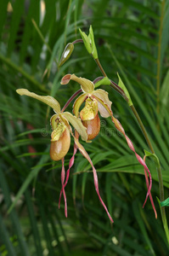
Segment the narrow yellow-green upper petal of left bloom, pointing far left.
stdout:
<svg viewBox="0 0 169 256">
<path fill-rule="evenodd" d="M 16 90 L 16 92 L 17 92 L 18 94 L 20 94 L 21 96 L 22 96 L 22 95 L 25 95 L 25 96 L 30 96 L 30 97 L 32 97 L 32 98 L 35 98 L 35 99 L 37 99 L 38 101 L 47 104 L 49 107 L 54 108 L 54 111 L 55 111 L 56 113 L 60 113 L 60 105 L 59 105 L 59 102 L 56 101 L 56 100 L 54 99 L 54 97 L 52 97 L 52 96 L 39 96 L 39 95 L 37 95 L 36 93 L 31 92 L 31 91 L 26 90 L 26 89 L 18 89 L 18 90 Z"/>
</svg>

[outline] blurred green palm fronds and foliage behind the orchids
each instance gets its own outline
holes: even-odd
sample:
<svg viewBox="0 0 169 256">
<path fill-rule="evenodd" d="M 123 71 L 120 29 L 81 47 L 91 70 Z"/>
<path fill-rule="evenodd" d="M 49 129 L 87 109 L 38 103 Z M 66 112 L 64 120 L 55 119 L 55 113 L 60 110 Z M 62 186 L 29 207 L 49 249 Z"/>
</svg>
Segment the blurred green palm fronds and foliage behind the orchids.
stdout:
<svg viewBox="0 0 169 256">
<path fill-rule="evenodd" d="M 0 255 L 168 255 L 156 196 L 158 219 L 147 202 L 143 167 L 110 119 L 99 137 L 84 147 L 99 173 L 99 187 L 115 224 L 100 205 L 93 174 L 80 153 L 66 187 L 68 218 L 58 209 L 61 163 L 49 158 L 53 110 L 15 90 L 51 95 L 64 106 L 79 89 L 60 86 L 65 73 L 95 79 L 100 72 L 82 44 L 58 68 L 65 44 L 93 25 L 99 59 L 108 76 L 116 73 L 130 91 L 155 152 L 161 160 L 165 197 L 169 188 L 169 1 L 168 0 L 14 0 L 0 3 Z M 141 156 L 149 150 L 127 103 L 105 88 L 112 110 Z M 70 106 L 71 109 L 72 106 Z M 70 110 L 69 109 L 69 110 Z M 67 167 L 73 142 L 66 156 Z M 8 207 L 17 201 L 13 210 Z M 166 212 L 167 216 L 168 212 Z"/>
</svg>

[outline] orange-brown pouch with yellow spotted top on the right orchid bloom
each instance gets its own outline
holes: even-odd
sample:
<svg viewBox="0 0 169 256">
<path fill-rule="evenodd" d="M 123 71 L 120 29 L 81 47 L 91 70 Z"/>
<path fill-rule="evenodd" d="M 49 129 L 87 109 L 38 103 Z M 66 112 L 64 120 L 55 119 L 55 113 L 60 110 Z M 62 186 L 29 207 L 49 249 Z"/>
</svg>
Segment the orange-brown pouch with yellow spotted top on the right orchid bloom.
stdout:
<svg viewBox="0 0 169 256">
<path fill-rule="evenodd" d="M 87 140 L 93 140 L 100 131 L 100 119 L 98 114 L 98 102 L 87 98 L 85 107 L 80 113 L 82 124 L 87 128 Z"/>
</svg>

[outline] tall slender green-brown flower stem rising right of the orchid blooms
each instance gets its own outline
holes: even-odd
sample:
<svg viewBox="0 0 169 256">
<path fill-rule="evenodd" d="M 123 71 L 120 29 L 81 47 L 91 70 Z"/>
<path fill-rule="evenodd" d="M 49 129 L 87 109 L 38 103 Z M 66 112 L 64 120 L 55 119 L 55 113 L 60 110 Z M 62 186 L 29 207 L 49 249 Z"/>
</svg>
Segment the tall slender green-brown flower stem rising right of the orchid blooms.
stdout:
<svg viewBox="0 0 169 256">
<path fill-rule="evenodd" d="M 95 61 L 96 61 L 97 65 L 98 65 L 99 70 L 101 71 L 101 73 L 104 75 L 104 77 L 106 77 L 107 75 L 104 72 L 104 68 L 102 67 L 99 59 L 96 59 Z M 123 90 L 121 91 L 118 88 L 119 86 L 117 84 L 115 84 L 115 82 L 111 81 L 110 86 L 113 87 L 116 91 L 118 91 L 121 94 L 121 96 L 123 96 L 124 99 L 126 101 L 128 101 L 127 96 L 125 95 L 124 91 Z M 138 120 L 138 125 L 140 126 L 140 129 L 142 130 L 142 132 L 144 134 L 144 137 L 146 139 L 146 142 L 149 145 L 149 149 L 150 149 L 151 153 L 155 154 L 155 150 L 154 150 L 154 148 L 153 148 L 153 146 L 152 146 L 152 144 L 151 144 L 151 142 L 149 140 L 149 136 L 147 134 L 147 131 L 145 130 L 144 124 L 143 124 L 142 120 L 140 119 L 136 108 L 134 108 L 134 105 L 130 106 L 130 108 L 132 109 L 132 113 L 134 114 L 134 116 Z M 163 181 L 162 181 L 161 166 L 157 166 L 157 173 L 158 173 L 158 179 L 159 179 L 160 199 L 161 199 L 161 201 L 164 201 L 164 186 L 163 186 Z M 164 230 L 166 232 L 166 239 L 167 239 L 168 244 L 169 244 L 169 230 L 168 230 L 168 225 L 167 225 L 167 221 L 166 221 L 165 207 L 161 207 L 161 217 L 162 217 L 162 222 L 163 222 Z"/>
</svg>

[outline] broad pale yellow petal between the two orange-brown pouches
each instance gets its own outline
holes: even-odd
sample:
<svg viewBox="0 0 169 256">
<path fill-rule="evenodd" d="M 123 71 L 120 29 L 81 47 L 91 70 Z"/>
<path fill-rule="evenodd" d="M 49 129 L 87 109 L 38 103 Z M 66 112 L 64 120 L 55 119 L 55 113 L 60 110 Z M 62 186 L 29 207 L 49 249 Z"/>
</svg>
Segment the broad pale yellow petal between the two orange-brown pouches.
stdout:
<svg viewBox="0 0 169 256">
<path fill-rule="evenodd" d="M 67 119 L 71 125 L 73 125 L 73 127 L 82 137 L 83 141 L 87 141 L 87 128 L 82 125 L 81 119 L 76 118 L 76 116 L 72 115 L 69 112 L 64 112 L 60 115 Z"/>
</svg>

